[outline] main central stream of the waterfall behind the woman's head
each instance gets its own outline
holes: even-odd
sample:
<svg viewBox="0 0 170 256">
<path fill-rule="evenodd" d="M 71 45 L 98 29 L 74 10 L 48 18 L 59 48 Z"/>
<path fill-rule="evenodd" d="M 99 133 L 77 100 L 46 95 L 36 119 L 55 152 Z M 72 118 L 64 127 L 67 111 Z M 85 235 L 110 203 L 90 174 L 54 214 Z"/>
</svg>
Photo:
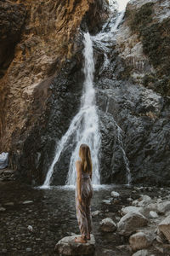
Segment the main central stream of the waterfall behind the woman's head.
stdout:
<svg viewBox="0 0 170 256">
<path fill-rule="evenodd" d="M 94 90 L 94 50 L 93 43 L 89 33 L 84 34 L 84 94 L 82 95 L 82 107 L 80 112 L 85 109 L 82 124 L 77 129 L 75 142 L 77 146 L 71 155 L 71 162 L 69 173 L 67 177 L 67 184 L 72 185 L 76 183 L 76 166 L 75 160 L 78 157 L 78 151 L 82 143 L 88 144 L 91 149 L 91 156 L 93 162 L 93 177 L 92 183 L 99 184 L 99 121 L 95 106 L 95 90 Z"/>
</svg>

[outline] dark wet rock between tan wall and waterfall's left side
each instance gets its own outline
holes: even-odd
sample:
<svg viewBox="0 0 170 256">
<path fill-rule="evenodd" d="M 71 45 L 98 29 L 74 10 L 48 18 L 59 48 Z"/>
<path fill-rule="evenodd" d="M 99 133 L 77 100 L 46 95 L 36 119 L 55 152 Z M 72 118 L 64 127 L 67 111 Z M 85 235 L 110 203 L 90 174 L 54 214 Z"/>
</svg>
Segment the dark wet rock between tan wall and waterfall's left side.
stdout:
<svg viewBox="0 0 170 256">
<path fill-rule="evenodd" d="M 81 55 L 67 61 L 50 84 L 51 96 L 44 119 L 35 124 L 24 145 L 17 142 L 20 154 L 11 152 L 11 165 L 17 166 L 18 176 L 28 183 L 43 183 L 48 167 L 54 159 L 56 146 L 67 131 L 71 119 L 77 113 L 82 94 L 83 74 Z M 65 148 L 62 158 L 54 166 L 54 184 L 65 184 L 71 157 L 70 148 Z"/>
</svg>

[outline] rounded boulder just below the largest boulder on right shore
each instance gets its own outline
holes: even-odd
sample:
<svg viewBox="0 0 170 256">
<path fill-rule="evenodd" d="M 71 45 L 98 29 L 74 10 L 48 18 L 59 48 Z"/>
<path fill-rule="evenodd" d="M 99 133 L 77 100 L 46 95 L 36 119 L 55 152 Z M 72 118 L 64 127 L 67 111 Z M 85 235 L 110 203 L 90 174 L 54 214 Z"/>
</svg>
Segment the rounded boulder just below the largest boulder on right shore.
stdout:
<svg viewBox="0 0 170 256">
<path fill-rule="evenodd" d="M 129 237 L 129 243 L 133 251 L 150 247 L 153 240 L 153 236 L 150 236 L 149 234 L 144 234 L 144 232 L 138 232 Z"/>
</svg>

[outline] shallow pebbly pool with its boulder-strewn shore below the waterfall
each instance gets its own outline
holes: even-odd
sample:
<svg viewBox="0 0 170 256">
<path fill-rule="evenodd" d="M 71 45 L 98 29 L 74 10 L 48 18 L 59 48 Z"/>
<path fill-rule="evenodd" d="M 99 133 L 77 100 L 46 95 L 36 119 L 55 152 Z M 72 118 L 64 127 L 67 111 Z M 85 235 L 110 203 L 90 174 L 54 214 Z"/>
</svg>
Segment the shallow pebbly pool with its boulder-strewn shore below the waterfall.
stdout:
<svg viewBox="0 0 170 256">
<path fill-rule="evenodd" d="M 79 234 L 74 189 L 37 189 L 8 181 L 1 183 L 0 201 L 2 255 L 59 256 L 54 251 L 56 243 Z M 94 189 L 94 255 L 168 256 L 170 243 L 163 234 L 169 226 L 162 221 L 169 214 L 169 187 L 104 185 Z"/>
</svg>

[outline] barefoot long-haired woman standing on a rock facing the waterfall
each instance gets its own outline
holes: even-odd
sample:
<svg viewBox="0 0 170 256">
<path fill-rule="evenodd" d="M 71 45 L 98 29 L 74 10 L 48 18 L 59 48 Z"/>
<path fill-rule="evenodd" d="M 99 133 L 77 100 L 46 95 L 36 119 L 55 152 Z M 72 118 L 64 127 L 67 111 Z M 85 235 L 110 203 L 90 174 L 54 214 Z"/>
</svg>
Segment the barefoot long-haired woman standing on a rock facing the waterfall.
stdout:
<svg viewBox="0 0 170 256">
<path fill-rule="evenodd" d="M 90 148 L 82 144 L 79 149 L 81 160 L 77 160 L 77 188 L 76 188 L 76 208 L 77 221 L 82 236 L 75 238 L 76 242 L 87 242 L 90 240 L 92 230 L 92 216 L 90 211 L 90 201 L 93 195 L 91 184 L 92 160 Z"/>
</svg>

